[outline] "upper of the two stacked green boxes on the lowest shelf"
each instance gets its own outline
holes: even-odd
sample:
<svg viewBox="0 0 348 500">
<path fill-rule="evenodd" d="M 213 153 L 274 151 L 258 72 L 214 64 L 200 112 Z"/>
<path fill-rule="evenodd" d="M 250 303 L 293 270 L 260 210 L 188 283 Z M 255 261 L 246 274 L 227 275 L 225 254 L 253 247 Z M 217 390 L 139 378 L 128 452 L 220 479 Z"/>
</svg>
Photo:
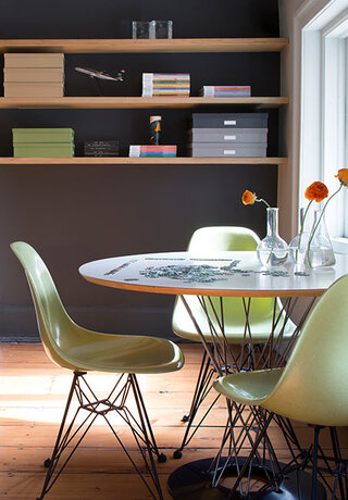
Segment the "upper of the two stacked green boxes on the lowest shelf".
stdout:
<svg viewBox="0 0 348 500">
<path fill-rule="evenodd" d="M 15 142 L 72 142 L 73 128 L 12 128 Z"/>
</svg>

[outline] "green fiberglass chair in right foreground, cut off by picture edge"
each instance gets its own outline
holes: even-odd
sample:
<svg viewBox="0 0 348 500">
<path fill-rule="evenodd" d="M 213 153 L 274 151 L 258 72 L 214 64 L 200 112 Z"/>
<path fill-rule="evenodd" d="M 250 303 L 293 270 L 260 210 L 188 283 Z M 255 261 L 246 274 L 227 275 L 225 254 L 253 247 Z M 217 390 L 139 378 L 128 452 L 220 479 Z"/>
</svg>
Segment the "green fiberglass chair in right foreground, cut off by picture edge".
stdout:
<svg viewBox="0 0 348 500">
<path fill-rule="evenodd" d="M 312 498 L 316 499 L 319 433 L 331 427 L 336 476 L 333 499 L 347 499 L 347 460 L 339 452 L 336 426 L 348 425 L 348 275 L 339 278 L 321 297 L 308 316 L 283 368 L 229 374 L 214 388 L 228 399 L 261 407 L 271 414 L 314 427 Z M 322 455 L 323 458 L 323 455 Z M 327 457 L 324 458 L 326 464 Z M 322 477 L 322 476 L 321 476 Z M 343 477 L 346 477 L 344 484 Z M 339 493 L 337 492 L 339 488 Z"/>
</svg>

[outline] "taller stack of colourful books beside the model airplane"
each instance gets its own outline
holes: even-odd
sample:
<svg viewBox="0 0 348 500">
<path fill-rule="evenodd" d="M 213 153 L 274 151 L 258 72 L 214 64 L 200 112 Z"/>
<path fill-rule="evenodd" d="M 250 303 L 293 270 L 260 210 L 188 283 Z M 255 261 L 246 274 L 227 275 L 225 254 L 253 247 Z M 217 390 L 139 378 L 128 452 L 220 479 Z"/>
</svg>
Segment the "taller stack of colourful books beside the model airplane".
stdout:
<svg viewBox="0 0 348 500">
<path fill-rule="evenodd" d="M 188 73 L 142 73 L 142 97 L 189 96 Z"/>
</svg>

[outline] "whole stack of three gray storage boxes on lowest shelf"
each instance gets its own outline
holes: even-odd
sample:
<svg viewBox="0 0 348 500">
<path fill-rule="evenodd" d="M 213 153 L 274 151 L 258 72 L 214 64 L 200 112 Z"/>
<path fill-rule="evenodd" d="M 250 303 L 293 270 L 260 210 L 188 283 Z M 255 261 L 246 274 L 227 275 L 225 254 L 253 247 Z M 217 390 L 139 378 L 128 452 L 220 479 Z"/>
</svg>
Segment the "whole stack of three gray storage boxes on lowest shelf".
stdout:
<svg viewBox="0 0 348 500">
<path fill-rule="evenodd" d="M 191 157 L 265 157 L 268 113 L 194 113 Z"/>
</svg>

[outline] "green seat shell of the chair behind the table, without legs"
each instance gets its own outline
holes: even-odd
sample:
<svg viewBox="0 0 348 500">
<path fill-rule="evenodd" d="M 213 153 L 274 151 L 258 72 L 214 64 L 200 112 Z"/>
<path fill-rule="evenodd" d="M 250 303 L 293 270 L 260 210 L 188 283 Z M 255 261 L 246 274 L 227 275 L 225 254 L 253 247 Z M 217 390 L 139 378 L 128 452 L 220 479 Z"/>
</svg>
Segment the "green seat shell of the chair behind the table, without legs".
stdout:
<svg viewBox="0 0 348 500">
<path fill-rule="evenodd" d="M 246 227 L 238 226 L 212 226 L 201 227 L 197 229 L 189 243 L 188 251 L 256 251 L 258 242 L 260 241 L 257 234 Z M 196 297 L 185 296 L 195 318 L 197 320 L 204 338 L 207 341 L 211 341 L 210 328 L 206 318 L 206 315 L 198 303 Z M 212 302 L 217 312 L 220 312 L 220 299 L 216 297 L 212 298 Z M 245 343 L 248 341 L 248 335 L 245 337 L 245 325 L 246 314 L 243 305 L 243 301 L 239 298 L 224 298 L 223 300 L 223 313 L 225 323 L 225 335 L 229 343 Z M 277 313 L 279 313 L 281 304 L 277 304 Z M 211 307 L 208 303 L 208 310 L 211 312 Z M 274 300 L 272 298 L 253 298 L 250 305 L 249 322 L 251 326 L 252 342 L 264 343 L 269 339 L 270 332 L 272 329 L 274 314 Z M 210 314 L 213 317 L 213 314 Z M 281 318 L 277 323 L 274 337 L 277 337 L 278 333 L 284 326 L 284 322 Z M 176 299 L 173 316 L 172 316 L 172 328 L 175 335 L 178 337 L 198 341 L 199 335 L 190 320 L 185 305 L 181 299 Z M 295 325 L 291 321 L 287 320 L 285 328 L 283 330 L 283 338 L 289 338 L 293 335 Z M 219 330 L 219 328 L 217 328 Z"/>
</svg>

